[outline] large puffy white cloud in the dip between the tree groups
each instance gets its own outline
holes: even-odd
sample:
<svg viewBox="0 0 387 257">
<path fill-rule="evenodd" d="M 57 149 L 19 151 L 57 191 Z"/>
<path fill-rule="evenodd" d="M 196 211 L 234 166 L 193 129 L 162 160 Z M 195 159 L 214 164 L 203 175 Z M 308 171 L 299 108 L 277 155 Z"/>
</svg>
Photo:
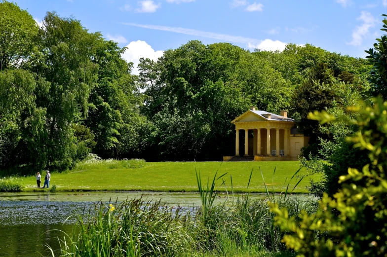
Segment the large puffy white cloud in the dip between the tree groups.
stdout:
<svg viewBox="0 0 387 257">
<path fill-rule="evenodd" d="M 145 41 L 132 41 L 126 46 L 125 52 L 122 54 L 122 57 L 127 62 L 133 62 L 133 71 L 132 74 L 140 74 L 137 66 L 140 63 L 140 58 L 149 58 L 156 61 L 159 57 L 164 54 L 164 51 L 155 51 L 152 46 L 150 46 Z"/>
</svg>

